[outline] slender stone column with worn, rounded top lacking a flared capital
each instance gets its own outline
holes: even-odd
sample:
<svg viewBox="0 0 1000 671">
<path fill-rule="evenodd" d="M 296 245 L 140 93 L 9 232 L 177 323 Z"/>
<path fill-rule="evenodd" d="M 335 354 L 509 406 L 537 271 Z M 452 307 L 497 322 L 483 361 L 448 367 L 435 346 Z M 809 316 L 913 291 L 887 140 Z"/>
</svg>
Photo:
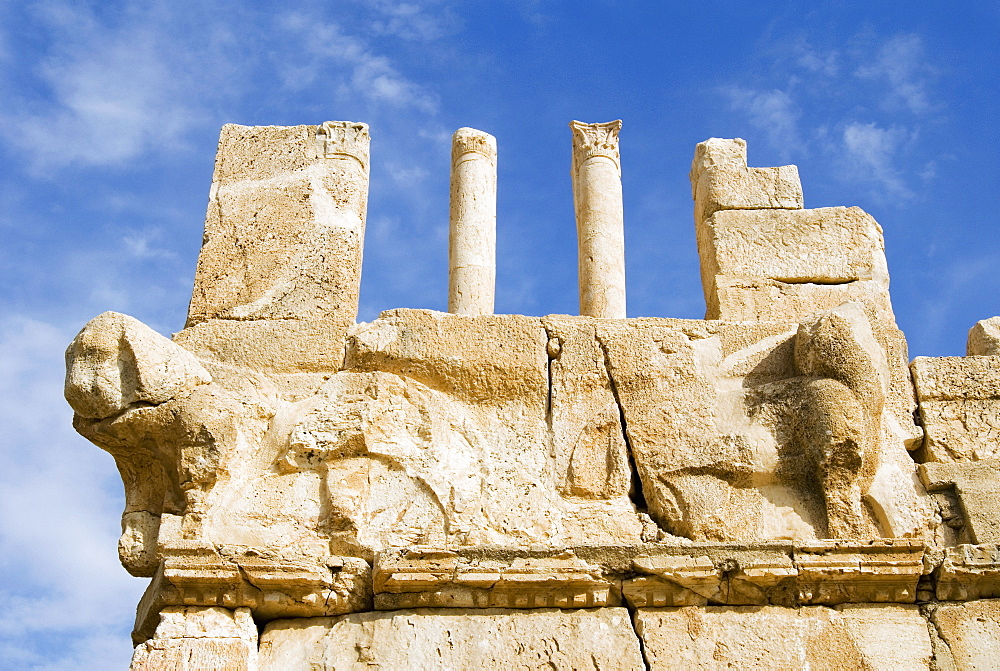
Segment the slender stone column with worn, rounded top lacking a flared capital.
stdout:
<svg viewBox="0 0 1000 671">
<path fill-rule="evenodd" d="M 459 128 L 451 140 L 448 312 L 493 314 L 496 285 L 497 141 Z"/>
</svg>

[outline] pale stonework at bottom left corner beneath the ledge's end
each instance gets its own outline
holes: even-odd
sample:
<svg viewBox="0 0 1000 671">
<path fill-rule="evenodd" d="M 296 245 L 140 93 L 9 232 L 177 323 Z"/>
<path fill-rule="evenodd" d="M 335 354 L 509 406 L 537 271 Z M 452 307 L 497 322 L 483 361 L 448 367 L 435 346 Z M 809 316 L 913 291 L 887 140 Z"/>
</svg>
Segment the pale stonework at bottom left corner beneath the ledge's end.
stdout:
<svg viewBox="0 0 1000 671">
<path fill-rule="evenodd" d="M 256 671 L 257 625 L 246 608 L 171 607 L 156 635 L 139 644 L 131 671 Z"/>
</svg>

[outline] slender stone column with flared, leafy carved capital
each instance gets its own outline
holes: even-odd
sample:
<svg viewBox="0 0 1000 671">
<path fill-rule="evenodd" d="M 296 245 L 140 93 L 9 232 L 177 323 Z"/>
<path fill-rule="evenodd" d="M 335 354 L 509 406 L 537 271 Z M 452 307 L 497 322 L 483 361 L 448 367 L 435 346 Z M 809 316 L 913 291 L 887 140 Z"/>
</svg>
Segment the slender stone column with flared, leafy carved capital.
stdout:
<svg viewBox="0 0 1000 671">
<path fill-rule="evenodd" d="M 580 314 L 625 318 L 625 220 L 618 131 L 621 120 L 573 130 L 573 205 L 579 241 Z"/>
</svg>

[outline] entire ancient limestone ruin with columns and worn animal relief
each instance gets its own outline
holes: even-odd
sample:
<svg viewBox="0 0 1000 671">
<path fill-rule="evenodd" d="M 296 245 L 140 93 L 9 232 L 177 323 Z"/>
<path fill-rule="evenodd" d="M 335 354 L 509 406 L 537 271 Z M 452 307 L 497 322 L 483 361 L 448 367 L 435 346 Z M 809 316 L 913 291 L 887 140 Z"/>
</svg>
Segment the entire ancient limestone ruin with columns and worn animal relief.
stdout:
<svg viewBox="0 0 1000 671">
<path fill-rule="evenodd" d="M 875 220 L 711 139 L 706 318 L 625 319 L 620 127 L 571 124 L 581 316 L 493 314 L 463 128 L 450 312 L 360 324 L 367 126 L 222 129 L 184 330 L 66 355 L 151 578 L 133 669 L 997 663 L 1000 318 L 911 363 Z"/>
</svg>

